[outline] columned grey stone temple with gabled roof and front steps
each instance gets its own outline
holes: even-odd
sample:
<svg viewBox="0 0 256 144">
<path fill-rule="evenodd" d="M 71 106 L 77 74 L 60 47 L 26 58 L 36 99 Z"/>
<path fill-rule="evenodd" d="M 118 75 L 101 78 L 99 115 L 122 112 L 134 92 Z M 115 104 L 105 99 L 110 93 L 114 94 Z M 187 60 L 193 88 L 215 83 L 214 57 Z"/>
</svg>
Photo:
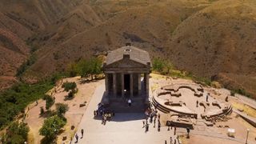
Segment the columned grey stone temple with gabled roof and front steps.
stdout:
<svg viewBox="0 0 256 144">
<path fill-rule="evenodd" d="M 103 64 L 105 103 L 116 112 L 126 112 L 122 106 L 130 98 L 133 103 L 130 109 L 142 110 L 148 103 L 150 68 L 150 55 L 145 50 L 128 45 L 110 51 Z"/>
</svg>

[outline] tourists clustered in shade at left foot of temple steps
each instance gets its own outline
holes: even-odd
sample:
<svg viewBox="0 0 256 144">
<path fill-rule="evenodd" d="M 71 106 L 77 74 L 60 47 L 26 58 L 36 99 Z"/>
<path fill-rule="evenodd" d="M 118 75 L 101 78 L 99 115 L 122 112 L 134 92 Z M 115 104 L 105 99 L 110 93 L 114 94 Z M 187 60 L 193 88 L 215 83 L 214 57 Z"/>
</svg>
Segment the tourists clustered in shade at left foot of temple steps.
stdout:
<svg viewBox="0 0 256 144">
<path fill-rule="evenodd" d="M 94 118 L 97 116 L 102 116 L 102 125 L 106 125 L 106 121 L 114 117 L 114 112 L 107 110 L 102 103 L 98 103 L 98 109 L 94 110 Z"/>
</svg>

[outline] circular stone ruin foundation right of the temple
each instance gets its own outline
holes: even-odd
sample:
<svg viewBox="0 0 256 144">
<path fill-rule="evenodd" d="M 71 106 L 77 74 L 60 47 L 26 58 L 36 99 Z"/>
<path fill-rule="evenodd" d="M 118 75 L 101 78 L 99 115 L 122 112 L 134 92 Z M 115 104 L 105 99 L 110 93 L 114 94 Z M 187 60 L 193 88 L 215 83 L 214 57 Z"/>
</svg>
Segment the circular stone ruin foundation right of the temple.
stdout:
<svg viewBox="0 0 256 144">
<path fill-rule="evenodd" d="M 207 96 L 208 95 L 208 96 Z M 153 103 L 163 113 L 206 120 L 230 114 L 232 106 L 210 96 L 199 84 L 171 84 L 153 93 Z"/>
</svg>

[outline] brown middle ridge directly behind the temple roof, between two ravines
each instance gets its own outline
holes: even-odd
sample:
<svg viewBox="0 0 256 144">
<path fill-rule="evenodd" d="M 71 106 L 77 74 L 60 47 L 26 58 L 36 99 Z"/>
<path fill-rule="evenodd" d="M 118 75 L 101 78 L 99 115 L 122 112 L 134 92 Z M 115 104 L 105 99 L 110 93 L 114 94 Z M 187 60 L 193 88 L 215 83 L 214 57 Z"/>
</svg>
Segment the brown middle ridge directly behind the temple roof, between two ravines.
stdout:
<svg viewBox="0 0 256 144">
<path fill-rule="evenodd" d="M 102 18 L 103 22 L 98 22 L 89 30 L 78 30 L 79 33 L 65 41 L 55 41 L 58 44 L 46 43 L 38 50 L 38 62 L 31 67 L 30 72 L 41 71 L 42 74 L 47 74 L 63 70 L 69 62 L 89 58 L 94 54 L 105 54 L 126 42 L 132 42 L 134 46 L 148 50 L 150 54 L 162 55 L 164 44 L 170 38 L 171 31 L 181 22 L 181 18 L 203 7 L 184 7 L 181 4 L 166 6 L 166 3 L 157 3 L 119 10 L 113 17 Z M 92 9 L 98 15 L 98 6 L 92 6 Z"/>
</svg>

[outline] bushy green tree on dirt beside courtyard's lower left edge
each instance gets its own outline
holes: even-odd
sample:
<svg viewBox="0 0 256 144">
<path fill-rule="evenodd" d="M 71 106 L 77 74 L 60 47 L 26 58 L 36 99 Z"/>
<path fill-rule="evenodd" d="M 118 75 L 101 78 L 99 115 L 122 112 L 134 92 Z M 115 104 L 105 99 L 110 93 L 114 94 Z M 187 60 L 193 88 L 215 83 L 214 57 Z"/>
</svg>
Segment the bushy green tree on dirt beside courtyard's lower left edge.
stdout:
<svg viewBox="0 0 256 144">
<path fill-rule="evenodd" d="M 42 128 L 39 130 L 39 134 L 45 136 L 47 140 L 54 140 L 59 131 L 65 125 L 66 121 L 64 121 L 63 118 L 54 115 L 43 122 Z"/>
</svg>

